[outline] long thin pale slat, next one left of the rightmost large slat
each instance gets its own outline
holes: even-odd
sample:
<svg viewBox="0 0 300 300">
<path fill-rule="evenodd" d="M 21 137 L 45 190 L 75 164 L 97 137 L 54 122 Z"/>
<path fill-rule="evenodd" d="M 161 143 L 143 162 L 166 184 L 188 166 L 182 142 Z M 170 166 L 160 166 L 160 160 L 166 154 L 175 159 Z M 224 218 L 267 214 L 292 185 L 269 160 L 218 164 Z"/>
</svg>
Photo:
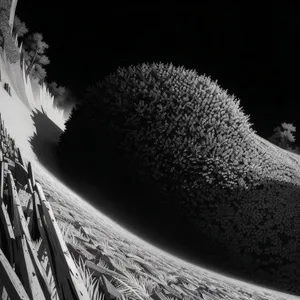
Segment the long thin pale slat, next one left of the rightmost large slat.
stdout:
<svg viewBox="0 0 300 300">
<path fill-rule="evenodd" d="M 38 288 L 41 288 L 41 290 L 43 291 L 43 295 L 41 296 L 42 298 L 37 298 L 37 299 L 47 299 L 47 300 L 51 300 L 51 288 L 48 284 L 48 280 L 47 280 L 47 275 L 45 273 L 45 270 L 43 269 L 40 261 L 38 260 L 37 257 L 37 253 L 36 250 L 32 244 L 32 240 L 27 228 L 27 223 L 25 220 L 25 216 L 22 210 L 22 206 L 16 191 L 16 187 L 14 185 L 14 181 L 13 181 L 13 177 L 11 175 L 11 172 L 8 172 L 8 184 L 9 186 L 11 186 L 11 190 L 13 191 L 13 201 L 14 201 L 14 208 L 15 208 L 15 219 L 14 222 L 16 222 L 16 224 L 14 224 L 14 229 L 15 230 L 19 230 L 19 232 L 21 234 L 24 234 L 26 237 L 26 246 L 23 245 L 23 248 L 28 246 L 28 250 L 27 252 L 29 253 L 29 257 L 26 256 L 26 262 L 32 262 L 32 265 L 34 267 L 35 270 L 35 277 L 37 278 L 37 281 L 35 282 L 35 286 L 32 287 L 34 288 L 34 290 L 36 291 Z M 29 260 L 30 259 L 30 260 Z M 22 264 L 22 262 L 21 262 Z M 31 268 L 31 265 L 30 265 Z M 39 285 L 39 287 L 36 287 L 36 285 Z"/>
</svg>

